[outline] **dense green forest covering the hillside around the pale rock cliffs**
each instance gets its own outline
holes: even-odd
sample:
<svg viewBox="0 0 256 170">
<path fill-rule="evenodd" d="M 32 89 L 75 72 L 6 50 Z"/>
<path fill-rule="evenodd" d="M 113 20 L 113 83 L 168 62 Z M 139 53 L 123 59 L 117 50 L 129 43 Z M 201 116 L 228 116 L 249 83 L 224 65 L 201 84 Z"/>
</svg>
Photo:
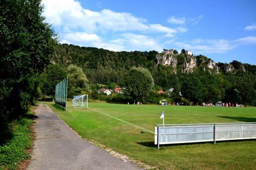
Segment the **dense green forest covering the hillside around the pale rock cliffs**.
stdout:
<svg viewBox="0 0 256 170">
<path fill-rule="evenodd" d="M 177 72 L 172 66 L 157 63 L 157 51 L 121 51 L 113 52 L 99 48 L 79 47 L 76 45 L 60 44 L 56 48 L 51 62 L 60 65 L 64 70 L 70 64 L 82 68 L 92 89 L 104 84 L 111 88 L 114 85 L 125 87 L 125 74 L 133 67 L 146 68 L 154 79 L 151 95 L 143 102 L 157 102 L 161 97 L 168 97 L 174 102 L 215 103 L 218 101 L 256 105 L 256 66 L 233 61 L 232 72 L 224 68 L 227 63 L 217 63 L 219 73 L 209 71 L 205 67 L 205 56 L 195 56 L 197 67 L 193 73 L 182 73 L 183 53 L 177 54 Z M 186 59 L 186 58 L 185 58 Z M 245 71 L 242 69 L 244 68 Z M 166 94 L 162 96 L 157 91 L 163 88 Z M 169 89 L 173 88 L 172 92 Z M 167 95 L 168 94 L 168 95 Z M 181 95 L 180 95 L 181 94 Z M 157 99 L 152 99 L 158 96 Z M 96 99 L 97 97 L 95 97 Z M 133 97 L 134 98 L 134 97 Z"/>
</svg>

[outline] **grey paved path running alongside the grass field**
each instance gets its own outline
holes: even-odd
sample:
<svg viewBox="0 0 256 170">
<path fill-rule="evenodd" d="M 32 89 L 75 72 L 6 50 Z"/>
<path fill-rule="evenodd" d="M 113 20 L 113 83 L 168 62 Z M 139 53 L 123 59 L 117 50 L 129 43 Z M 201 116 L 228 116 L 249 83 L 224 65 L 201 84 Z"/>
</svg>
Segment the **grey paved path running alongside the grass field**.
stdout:
<svg viewBox="0 0 256 170">
<path fill-rule="evenodd" d="M 36 109 L 35 149 L 28 170 L 139 170 L 81 139 L 49 106 Z"/>
</svg>

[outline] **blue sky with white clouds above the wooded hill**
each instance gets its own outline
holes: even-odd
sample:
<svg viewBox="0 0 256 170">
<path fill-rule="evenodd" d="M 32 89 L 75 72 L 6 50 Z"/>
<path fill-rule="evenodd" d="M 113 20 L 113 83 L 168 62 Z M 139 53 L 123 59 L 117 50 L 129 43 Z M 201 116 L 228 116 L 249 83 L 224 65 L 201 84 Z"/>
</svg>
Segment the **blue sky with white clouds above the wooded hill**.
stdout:
<svg viewBox="0 0 256 170">
<path fill-rule="evenodd" d="M 60 43 L 256 65 L 256 0 L 42 0 Z"/>
</svg>

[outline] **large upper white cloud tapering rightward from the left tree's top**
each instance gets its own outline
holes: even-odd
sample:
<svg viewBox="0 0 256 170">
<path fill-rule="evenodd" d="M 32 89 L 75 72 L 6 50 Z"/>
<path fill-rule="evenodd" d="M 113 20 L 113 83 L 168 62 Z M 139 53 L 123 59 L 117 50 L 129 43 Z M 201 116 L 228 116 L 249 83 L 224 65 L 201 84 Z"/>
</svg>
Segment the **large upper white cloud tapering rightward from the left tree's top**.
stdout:
<svg viewBox="0 0 256 170">
<path fill-rule="evenodd" d="M 43 0 L 44 16 L 47 22 L 57 27 L 82 28 L 84 32 L 97 31 L 149 31 L 174 34 L 185 29 L 169 28 L 160 24 L 147 24 L 144 18 L 130 13 L 114 12 L 109 9 L 91 11 L 75 0 Z"/>
</svg>

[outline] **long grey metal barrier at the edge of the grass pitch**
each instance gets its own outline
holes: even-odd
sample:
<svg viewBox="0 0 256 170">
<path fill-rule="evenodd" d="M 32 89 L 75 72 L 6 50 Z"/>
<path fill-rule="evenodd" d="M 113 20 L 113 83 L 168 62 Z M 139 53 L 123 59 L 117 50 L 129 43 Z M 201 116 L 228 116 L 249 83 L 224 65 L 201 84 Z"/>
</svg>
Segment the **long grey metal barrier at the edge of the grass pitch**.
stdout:
<svg viewBox="0 0 256 170">
<path fill-rule="evenodd" d="M 256 139 L 256 122 L 171 124 L 155 127 L 155 144 Z"/>
</svg>

